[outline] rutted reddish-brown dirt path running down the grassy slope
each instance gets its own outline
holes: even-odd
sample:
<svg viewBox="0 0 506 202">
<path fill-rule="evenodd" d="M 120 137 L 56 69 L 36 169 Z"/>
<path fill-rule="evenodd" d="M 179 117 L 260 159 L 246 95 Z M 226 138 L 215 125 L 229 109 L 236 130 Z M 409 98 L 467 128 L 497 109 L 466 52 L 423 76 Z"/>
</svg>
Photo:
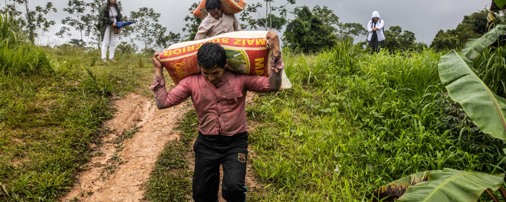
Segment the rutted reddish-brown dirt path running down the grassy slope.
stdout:
<svg viewBox="0 0 506 202">
<path fill-rule="evenodd" d="M 109 133 L 103 144 L 94 145 L 95 157 L 86 165 L 90 170 L 79 173 L 77 183 L 58 201 L 70 202 L 75 197 L 83 202 L 140 201 L 144 192 L 141 185 L 149 178 L 159 152 L 168 141 L 178 138 L 173 133 L 175 123 L 192 108 L 184 102 L 158 110 L 152 100 L 134 93 L 114 104 L 118 112 L 104 124 Z M 136 129 L 139 131 L 133 137 L 121 137 Z"/>
</svg>

